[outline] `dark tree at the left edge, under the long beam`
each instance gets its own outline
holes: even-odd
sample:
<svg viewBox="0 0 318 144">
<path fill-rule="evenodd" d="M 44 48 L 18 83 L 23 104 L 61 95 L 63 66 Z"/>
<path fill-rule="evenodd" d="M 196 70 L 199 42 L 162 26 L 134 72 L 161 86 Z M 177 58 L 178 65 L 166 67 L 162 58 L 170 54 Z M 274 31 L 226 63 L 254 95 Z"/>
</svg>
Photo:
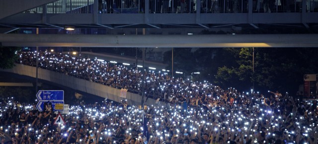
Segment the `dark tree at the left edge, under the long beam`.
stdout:
<svg viewBox="0 0 318 144">
<path fill-rule="evenodd" d="M 11 69 L 18 60 L 16 52 L 20 50 L 18 47 L 0 47 L 0 68 Z"/>
</svg>

